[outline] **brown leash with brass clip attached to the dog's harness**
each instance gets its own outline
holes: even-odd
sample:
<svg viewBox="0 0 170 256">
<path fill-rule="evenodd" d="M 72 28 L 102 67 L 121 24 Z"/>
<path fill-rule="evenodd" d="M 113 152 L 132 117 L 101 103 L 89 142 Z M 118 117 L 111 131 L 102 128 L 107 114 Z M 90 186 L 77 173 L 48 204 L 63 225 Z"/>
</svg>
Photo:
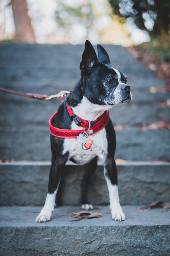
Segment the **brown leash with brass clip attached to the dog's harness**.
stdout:
<svg viewBox="0 0 170 256">
<path fill-rule="evenodd" d="M 4 88 L 0 88 L 0 91 L 3 91 L 5 93 L 11 93 L 11 94 L 16 94 L 19 96 L 23 96 L 23 97 L 27 97 L 30 99 L 37 99 L 37 100 L 51 100 L 51 99 L 55 99 L 55 98 L 63 98 L 65 94 L 69 94 L 69 91 L 60 91 L 60 93 L 58 94 L 54 94 L 54 95 L 41 95 L 41 94 L 33 94 L 33 93 L 21 93 L 20 91 L 13 91 L 13 90 L 9 90 L 9 89 L 4 89 Z"/>
</svg>

